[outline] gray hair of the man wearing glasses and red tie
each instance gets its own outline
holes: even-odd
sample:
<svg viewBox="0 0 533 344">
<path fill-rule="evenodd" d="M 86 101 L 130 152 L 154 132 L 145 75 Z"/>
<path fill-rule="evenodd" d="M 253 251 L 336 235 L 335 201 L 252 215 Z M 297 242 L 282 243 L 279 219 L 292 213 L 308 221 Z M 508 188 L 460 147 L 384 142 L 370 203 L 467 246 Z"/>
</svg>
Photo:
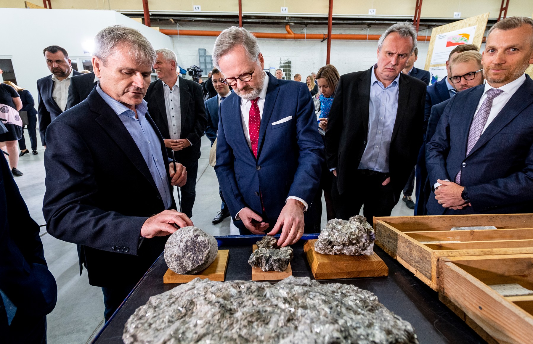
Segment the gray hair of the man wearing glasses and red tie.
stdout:
<svg viewBox="0 0 533 344">
<path fill-rule="evenodd" d="M 219 62 L 222 56 L 228 54 L 239 45 L 244 47 L 249 61 L 257 61 L 261 53 L 257 38 L 252 35 L 252 32 L 244 28 L 232 26 L 222 31 L 219 37 L 216 37 L 215 46 L 213 47 L 213 64 L 215 67 L 220 68 Z"/>
</svg>

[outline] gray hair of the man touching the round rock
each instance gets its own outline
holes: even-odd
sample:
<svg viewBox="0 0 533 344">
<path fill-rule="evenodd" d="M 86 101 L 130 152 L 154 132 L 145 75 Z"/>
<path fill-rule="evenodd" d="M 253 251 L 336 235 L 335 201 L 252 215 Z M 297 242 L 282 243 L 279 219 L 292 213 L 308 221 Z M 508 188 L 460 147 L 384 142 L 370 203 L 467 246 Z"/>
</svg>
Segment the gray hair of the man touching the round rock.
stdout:
<svg viewBox="0 0 533 344">
<path fill-rule="evenodd" d="M 141 32 L 122 25 L 108 26 L 96 34 L 93 55 L 106 64 L 120 45 L 127 45 L 128 53 L 139 64 L 154 65 L 156 62 L 156 52 L 148 39 Z"/>
</svg>

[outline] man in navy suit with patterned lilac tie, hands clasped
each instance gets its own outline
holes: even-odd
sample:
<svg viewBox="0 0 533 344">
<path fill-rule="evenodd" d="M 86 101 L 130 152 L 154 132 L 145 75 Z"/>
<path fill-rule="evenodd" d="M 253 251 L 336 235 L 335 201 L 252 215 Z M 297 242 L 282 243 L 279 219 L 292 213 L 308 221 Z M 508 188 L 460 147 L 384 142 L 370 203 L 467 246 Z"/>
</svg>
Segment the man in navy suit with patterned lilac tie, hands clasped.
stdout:
<svg viewBox="0 0 533 344">
<path fill-rule="evenodd" d="M 427 143 L 429 215 L 533 211 L 533 20 L 510 17 L 487 35 L 485 85 L 455 95 Z"/>
</svg>

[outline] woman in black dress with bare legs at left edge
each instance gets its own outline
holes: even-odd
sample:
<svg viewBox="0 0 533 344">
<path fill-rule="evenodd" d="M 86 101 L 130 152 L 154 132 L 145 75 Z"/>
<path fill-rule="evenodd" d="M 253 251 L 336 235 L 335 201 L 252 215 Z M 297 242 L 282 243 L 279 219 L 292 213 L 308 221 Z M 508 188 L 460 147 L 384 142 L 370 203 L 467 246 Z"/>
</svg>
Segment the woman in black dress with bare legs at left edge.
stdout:
<svg viewBox="0 0 533 344">
<path fill-rule="evenodd" d="M 13 87 L 6 84 L 0 84 L 0 104 L 7 105 L 8 107 L 11 107 L 17 111 L 22 109 L 20 95 Z M 11 167 L 11 173 L 13 176 L 20 177 L 22 176 L 22 172 L 17 169 L 19 163 L 19 150 L 17 147 L 17 142 L 22 136 L 22 127 L 6 123 L 4 123 L 4 125 L 7 128 L 7 133 L 0 134 L 0 149 L 9 153 L 9 165 Z"/>
</svg>

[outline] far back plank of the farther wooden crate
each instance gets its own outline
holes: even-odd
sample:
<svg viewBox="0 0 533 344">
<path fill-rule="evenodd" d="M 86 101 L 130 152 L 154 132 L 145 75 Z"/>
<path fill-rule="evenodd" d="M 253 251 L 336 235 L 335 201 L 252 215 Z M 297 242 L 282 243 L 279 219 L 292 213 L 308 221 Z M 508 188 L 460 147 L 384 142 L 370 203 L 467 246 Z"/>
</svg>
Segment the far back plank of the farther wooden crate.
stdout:
<svg viewBox="0 0 533 344">
<path fill-rule="evenodd" d="M 496 228 L 531 228 L 533 214 L 433 215 L 375 217 L 400 232 L 449 231 L 452 227 L 495 226 Z"/>
</svg>

